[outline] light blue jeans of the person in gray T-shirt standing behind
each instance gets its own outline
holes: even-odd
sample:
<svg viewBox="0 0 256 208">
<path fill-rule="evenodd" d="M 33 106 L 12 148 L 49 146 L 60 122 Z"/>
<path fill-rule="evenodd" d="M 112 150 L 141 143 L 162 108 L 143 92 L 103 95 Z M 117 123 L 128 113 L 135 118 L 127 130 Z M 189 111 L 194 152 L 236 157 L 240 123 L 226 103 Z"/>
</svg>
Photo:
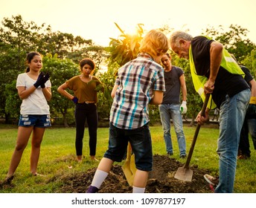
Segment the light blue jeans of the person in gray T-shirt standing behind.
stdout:
<svg viewBox="0 0 256 208">
<path fill-rule="evenodd" d="M 172 119 L 179 144 L 179 155 L 181 156 L 186 155 L 186 140 L 183 132 L 182 114 L 179 111 L 179 107 L 179 104 L 161 104 L 159 105 L 159 111 L 167 153 L 173 154 L 173 143 L 170 135 L 170 119 Z"/>
</svg>

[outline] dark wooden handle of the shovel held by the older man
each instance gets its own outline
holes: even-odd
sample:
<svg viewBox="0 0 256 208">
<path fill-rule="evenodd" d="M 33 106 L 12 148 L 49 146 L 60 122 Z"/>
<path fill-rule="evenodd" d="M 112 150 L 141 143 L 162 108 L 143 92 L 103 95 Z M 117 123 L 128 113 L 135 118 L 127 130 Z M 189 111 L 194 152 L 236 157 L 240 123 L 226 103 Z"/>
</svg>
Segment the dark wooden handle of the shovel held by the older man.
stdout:
<svg viewBox="0 0 256 208">
<path fill-rule="evenodd" d="M 206 107 L 207 107 L 207 104 L 208 104 L 209 97 L 210 97 L 210 94 L 206 94 L 205 102 L 202 105 L 202 110 L 201 110 L 201 115 L 202 116 L 205 116 L 205 110 L 206 110 Z M 185 169 L 189 168 L 189 163 L 191 162 L 191 157 L 192 157 L 192 154 L 193 154 L 193 149 L 194 149 L 195 144 L 196 144 L 196 139 L 197 139 L 197 136 L 199 134 L 200 127 L 201 126 L 199 125 L 199 123 L 197 123 L 196 131 L 195 131 L 195 134 L 193 135 L 193 140 L 192 140 L 192 143 L 191 143 L 191 149 L 189 150 L 188 158 L 187 158 L 185 166 L 184 166 Z"/>
</svg>

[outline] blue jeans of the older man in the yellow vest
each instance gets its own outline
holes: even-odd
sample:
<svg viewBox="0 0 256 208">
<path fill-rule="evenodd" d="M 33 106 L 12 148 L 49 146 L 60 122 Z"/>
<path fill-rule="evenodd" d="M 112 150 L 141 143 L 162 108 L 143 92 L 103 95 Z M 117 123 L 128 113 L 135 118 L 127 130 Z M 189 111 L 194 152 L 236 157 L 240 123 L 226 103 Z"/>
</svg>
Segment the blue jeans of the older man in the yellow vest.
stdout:
<svg viewBox="0 0 256 208">
<path fill-rule="evenodd" d="M 231 193 L 237 168 L 237 151 L 240 131 L 246 116 L 251 91 L 246 89 L 233 97 L 226 95 L 220 106 L 220 135 L 217 141 L 220 182 L 215 192 Z"/>
</svg>

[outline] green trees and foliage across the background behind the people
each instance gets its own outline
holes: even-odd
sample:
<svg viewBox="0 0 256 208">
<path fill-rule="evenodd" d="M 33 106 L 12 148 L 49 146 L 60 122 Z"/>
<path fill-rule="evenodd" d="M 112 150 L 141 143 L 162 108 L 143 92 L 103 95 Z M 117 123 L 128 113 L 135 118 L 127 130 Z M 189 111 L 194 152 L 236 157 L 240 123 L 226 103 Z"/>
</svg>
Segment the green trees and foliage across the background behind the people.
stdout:
<svg viewBox="0 0 256 208">
<path fill-rule="evenodd" d="M 78 63 L 83 57 L 89 57 L 95 61 L 95 74 L 103 82 L 103 93 L 98 94 L 98 110 L 100 119 L 109 117 L 112 104 L 110 93 L 114 85 L 115 72 L 131 59 L 134 59 L 139 51 L 140 42 L 144 35 L 143 24 L 136 27 L 137 33 L 129 34 L 116 24 L 121 35 L 118 39 L 111 39 L 108 48 L 94 45 L 92 40 L 73 36 L 70 33 L 60 31 L 53 32 L 50 25 L 36 25 L 34 22 L 24 22 L 22 16 L 4 18 L 0 27 L 0 117 L 16 117 L 19 111 L 18 97 L 14 81 L 17 74 L 25 71 L 25 56 L 28 51 L 39 51 L 44 55 L 42 71 L 50 73 L 52 82 L 52 99 L 49 102 L 52 117 L 63 116 L 65 126 L 73 123 L 71 119 L 74 104 L 57 92 L 58 86 L 63 84 L 76 74 L 79 74 Z M 236 56 L 238 62 L 246 65 L 251 74 L 256 74 L 255 44 L 246 39 L 248 30 L 237 25 L 231 25 L 230 30 L 223 32 L 223 27 L 205 30 L 205 35 L 211 36 L 225 45 L 229 52 Z M 169 25 L 159 28 L 164 33 L 170 33 Z M 54 54 L 54 56 L 51 56 Z M 179 59 L 175 54 L 173 65 L 181 67 L 185 71 L 185 79 L 188 91 L 188 113 L 186 117 L 195 117 L 202 107 L 202 100 L 194 91 L 188 62 Z M 72 61 L 73 62 L 72 62 Z M 102 72 L 101 66 L 108 64 L 108 70 Z M 99 86 L 100 87 L 100 86 Z M 100 89 L 97 89 L 100 91 Z M 151 121 L 159 120 L 157 106 L 150 106 Z M 192 119 L 193 120 L 193 119 Z"/>
</svg>

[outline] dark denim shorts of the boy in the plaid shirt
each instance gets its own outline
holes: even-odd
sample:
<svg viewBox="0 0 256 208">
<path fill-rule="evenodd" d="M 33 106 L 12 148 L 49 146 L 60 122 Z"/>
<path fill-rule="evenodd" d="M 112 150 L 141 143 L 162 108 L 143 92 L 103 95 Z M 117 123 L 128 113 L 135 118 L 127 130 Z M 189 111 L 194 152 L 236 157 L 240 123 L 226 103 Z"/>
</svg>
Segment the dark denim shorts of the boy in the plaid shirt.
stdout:
<svg viewBox="0 0 256 208">
<path fill-rule="evenodd" d="M 104 157 L 121 162 L 125 159 L 127 145 L 131 143 L 135 155 L 136 168 L 151 171 L 153 168 L 152 140 L 149 126 L 146 124 L 138 129 L 119 129 L 110 123 L 109 148 Z"/>
</svg>

